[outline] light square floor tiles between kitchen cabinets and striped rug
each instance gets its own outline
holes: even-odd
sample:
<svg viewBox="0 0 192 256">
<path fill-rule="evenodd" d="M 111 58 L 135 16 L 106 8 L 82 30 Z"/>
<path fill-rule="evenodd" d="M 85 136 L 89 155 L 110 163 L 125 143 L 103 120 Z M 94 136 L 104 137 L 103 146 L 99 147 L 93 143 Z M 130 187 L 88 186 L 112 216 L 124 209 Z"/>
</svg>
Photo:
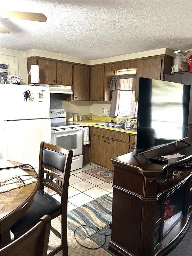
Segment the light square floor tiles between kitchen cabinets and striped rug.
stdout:
<svg viewBox="0 0 192 256">
<path fill-rule="evenodd" d="M 86 164 L 82 169 L 70 172 L 67 211 L 71 211 L 85 203 L 88 203 L 104 194 L 113 197 L 113 182 L 107 183 L 84 173 L 85 170 L 95 168 L 94 164 Z M 58 194 L 53 195 L 55 199 L 61 201 Z"/>
</svg>

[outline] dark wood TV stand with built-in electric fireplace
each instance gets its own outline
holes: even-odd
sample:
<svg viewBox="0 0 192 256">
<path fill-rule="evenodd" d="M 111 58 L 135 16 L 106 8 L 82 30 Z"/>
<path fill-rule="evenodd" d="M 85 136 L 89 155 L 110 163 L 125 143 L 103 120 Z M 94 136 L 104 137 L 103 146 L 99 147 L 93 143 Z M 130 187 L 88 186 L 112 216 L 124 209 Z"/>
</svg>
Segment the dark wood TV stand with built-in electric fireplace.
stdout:
<svg viewBox="0 0 192 256">
<path fill-rule="evenodd" d="M 184 237 L 192 221 L 192 168 L 179 164 L 192 158 L 192 146 L 177 142 L 145 154 L 184 155 L 165 164 L 149 164 L 134 152 L 113 158 L 112 236 L 109 249 L 117 256 L 167 255 Z M 159 184 L 162 174 L 168 179 Z"/>
</svg>

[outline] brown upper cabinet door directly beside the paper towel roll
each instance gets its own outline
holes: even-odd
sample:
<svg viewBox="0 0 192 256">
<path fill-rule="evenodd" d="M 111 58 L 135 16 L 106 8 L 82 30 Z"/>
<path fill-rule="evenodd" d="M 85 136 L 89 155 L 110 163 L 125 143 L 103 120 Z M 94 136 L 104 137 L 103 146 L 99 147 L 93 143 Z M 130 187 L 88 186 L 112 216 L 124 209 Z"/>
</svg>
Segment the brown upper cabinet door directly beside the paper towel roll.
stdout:
<svg viewBox="0 0 192 256">
<path fill-rule="evenodd" d="M 39 80 L 41 84 L 56 84 L 56 62 L 38 59 Z"/>
</svg>

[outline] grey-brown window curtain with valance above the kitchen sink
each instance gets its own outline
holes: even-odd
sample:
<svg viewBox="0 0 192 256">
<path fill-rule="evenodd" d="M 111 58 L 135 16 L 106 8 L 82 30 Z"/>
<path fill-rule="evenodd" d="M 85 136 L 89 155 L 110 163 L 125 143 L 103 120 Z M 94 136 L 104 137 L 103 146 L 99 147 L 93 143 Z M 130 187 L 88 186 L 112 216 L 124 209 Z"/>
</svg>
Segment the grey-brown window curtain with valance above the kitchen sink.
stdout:
<svg viewBox="0 0 192 256">
<path fill-rule="evenodd" d="M 110 91 L 112 91 L 110 116 L 118 116 L 120 91 L 132 91 L 130 118 L 137 118 L 137 102 L 135 102 L 136 74 L 112 76 Z"/>
</svg>

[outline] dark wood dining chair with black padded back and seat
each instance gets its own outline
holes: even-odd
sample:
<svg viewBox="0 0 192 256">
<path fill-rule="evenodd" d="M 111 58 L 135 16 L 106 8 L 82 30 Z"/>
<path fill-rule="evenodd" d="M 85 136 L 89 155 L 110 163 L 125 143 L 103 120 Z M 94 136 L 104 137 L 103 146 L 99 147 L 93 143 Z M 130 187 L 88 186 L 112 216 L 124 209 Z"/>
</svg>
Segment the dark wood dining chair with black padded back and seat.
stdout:
<svg viewBox="0 0 192 256">
<path fill-rule="evenodd" d="M 10 227 L 16 239 L 35 225 L 43 215 L 48 214 L 51 219 L 61 215 L 61 233 L 51 227 L 51 231 L 61 239 L 61 245 L 51 251 L 49 256 L 55 255 L 61 250 L 64 256 L 68 256 L 67 197 L 72 157 L 72 150 L 41 142 L 39 155 L 41 188 L 39 188 L 29 210 Z M 61 202 L 44 192 L 44 186 L 59 194 Z"/>
</svg>

